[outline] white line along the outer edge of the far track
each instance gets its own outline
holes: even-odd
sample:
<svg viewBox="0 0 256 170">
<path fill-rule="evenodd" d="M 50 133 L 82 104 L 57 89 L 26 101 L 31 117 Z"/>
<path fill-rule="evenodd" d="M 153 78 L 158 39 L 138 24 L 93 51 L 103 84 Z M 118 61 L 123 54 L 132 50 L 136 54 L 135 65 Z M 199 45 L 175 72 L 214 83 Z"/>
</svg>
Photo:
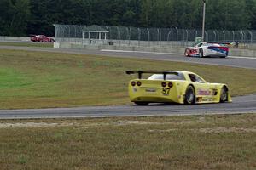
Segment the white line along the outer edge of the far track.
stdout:
<svg viewBox="0 0 256 170">
<path fill-rule="evenodd" d="M 102 52 L 115 52 L 115 53 L 141 53 L 141 54 L 171 54 L 171 55 L 183 55 L 176 53 L 160 53 L 160 52 L 149 52 L 149 51 L 126 51 L 126 50 L 114 50 L 114 49 L 102 49 Z M 256 59 L 256 57 L 240 57 L 240 56 L 228 56 L 232 59 Z"/>
</svg>

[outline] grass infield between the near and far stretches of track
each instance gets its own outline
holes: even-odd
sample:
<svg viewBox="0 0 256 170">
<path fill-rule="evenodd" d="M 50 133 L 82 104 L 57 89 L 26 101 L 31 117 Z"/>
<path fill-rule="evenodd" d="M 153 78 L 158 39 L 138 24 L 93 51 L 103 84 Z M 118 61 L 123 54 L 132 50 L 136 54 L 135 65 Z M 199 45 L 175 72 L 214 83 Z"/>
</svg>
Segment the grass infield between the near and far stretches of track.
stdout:
<svg viewBox="0 0 256 170">
<path fill-rule="evenodd" d="M 194 71 L 234 95 L 256 92 L 256 71 L 217 65 L 0 50 L 0 108 L 130 105 L 127 70 Z"/>
</svg>

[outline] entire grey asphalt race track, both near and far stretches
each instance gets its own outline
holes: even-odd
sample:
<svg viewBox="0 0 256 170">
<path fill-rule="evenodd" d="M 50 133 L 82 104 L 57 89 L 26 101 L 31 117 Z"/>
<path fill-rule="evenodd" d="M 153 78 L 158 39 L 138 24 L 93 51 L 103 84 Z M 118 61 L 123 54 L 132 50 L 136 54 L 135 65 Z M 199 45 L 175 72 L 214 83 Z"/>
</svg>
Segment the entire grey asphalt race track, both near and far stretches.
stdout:
<svg viewBox="0 0 256 170">
<path fill-rule="evenodd" d="M 28 48 L 0 46 L 0 49 L 22 49 L 28 51 L 60 52 L 66 54 L 97 54 L 113 57 L 157 59 L 201 63 L 207 65 L 226 65 L 241 68 L 256 69 L 256 58 L 212 59 L 186 58 L 181 54 L 154 54 L 125 51 L 92 51 L 62 48 Z M 170 68 L 172 70 L 172 68 Z M 37 110 L 0 110 L 0 119 L 24 118 L 57 118 L 57 117 L 105 117 L 105 116 L 171 116 L 171 115 L 199 115 L 199 114 L 237 114 L 256 113 L 256 94 L 233 98 L 233 103 L 207 105 L 124 105 L 100 106 L 80 108 L 58 108 Z"/>
</svg>

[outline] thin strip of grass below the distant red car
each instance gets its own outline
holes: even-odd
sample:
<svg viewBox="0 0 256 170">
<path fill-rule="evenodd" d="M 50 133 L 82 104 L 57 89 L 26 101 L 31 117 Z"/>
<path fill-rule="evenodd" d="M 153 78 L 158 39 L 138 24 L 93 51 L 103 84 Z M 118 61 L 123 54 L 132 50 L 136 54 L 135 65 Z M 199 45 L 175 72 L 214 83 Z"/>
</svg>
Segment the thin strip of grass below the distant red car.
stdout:
<svg viewBox="0 0 256 170">
<path fill-rule="evenodd" d="M 48 42 L 0 42 L 0 46 L 53 48 L 53 43 L 48 43 Z"/>
</svg>

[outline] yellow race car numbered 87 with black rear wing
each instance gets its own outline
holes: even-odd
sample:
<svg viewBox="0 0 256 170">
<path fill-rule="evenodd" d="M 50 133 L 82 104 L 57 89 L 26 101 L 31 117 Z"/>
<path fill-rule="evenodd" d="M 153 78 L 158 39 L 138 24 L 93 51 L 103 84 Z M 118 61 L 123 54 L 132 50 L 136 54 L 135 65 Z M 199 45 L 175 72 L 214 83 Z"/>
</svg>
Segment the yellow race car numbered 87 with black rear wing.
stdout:
<svg viewBox="0 0 256 170">
<path fill-rule="evenodd" d="M 129 82 L 131 102 L 137 105 L 148 103 L 201 104 L 231 102 L 226 84 L 210 83 L 189 71 L 126 71 L 138 74 Z M 143 74 L 151 74 L 143 79 Z"/>
</svg>

